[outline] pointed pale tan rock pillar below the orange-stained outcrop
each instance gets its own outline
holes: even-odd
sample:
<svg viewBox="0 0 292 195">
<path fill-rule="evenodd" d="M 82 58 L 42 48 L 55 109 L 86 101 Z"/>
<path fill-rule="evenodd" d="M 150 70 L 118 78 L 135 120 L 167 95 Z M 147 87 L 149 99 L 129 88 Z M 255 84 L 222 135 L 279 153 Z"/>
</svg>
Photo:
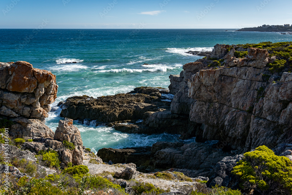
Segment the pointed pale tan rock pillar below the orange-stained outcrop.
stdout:
<svg viewBox="0 0 292 195">
<path fill-rule="evenodd" d="M 74 165 L 81 165 L 83 161 L 82 147 L 83 142 L 81 139 L 80 131 L 73 125 L 73 120 L 65 118 L 65 120 L 59 121 L 59 126 L 55 131 L 54 140 L 57 141 L 68 141 L 75 145 L 74 150 L 62 149 L 61 160 L 62 163 L 72 162 Z"/>
</svg>

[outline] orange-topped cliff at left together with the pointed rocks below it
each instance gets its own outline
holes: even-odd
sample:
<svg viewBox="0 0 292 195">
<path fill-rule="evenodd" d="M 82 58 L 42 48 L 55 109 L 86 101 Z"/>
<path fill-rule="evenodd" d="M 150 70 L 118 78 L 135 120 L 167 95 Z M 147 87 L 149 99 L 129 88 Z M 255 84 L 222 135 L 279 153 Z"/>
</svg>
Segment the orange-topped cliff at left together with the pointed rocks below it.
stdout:
<svg viewBox="0 0 292 195">
<path fill-rule="evenodd" d="M 73 120 L 60 120 L 55 133 L 44 124 L 57 91 L 56 76 L 50 71 L 33 68 L 24 61 L 0 62 L 0 119 L 13 122 L 9 135 L 32 139 L 32 142 L 25 142 L 22 149 L 34 153 L 49 149 L 58 151 L 63 167 L 68 162 L 81 165 L 83 143 Z M 62 144 L 64 140 L 73 143 L 75 149 L 66 149 Z"/>
</svg>

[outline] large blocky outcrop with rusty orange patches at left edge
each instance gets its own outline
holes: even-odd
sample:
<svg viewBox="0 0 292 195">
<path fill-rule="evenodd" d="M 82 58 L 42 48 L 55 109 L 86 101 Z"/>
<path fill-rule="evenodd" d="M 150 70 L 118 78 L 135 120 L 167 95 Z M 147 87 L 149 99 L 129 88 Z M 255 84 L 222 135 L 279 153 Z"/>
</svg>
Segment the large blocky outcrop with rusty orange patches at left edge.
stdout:
<svg viewBox="0 0 292 195">
<path fill-rule="evenodd" d="M 56 76 L 28 62 L 0 63 L 0 114 L 44 119 L 57 98 Z"/>
</svg>

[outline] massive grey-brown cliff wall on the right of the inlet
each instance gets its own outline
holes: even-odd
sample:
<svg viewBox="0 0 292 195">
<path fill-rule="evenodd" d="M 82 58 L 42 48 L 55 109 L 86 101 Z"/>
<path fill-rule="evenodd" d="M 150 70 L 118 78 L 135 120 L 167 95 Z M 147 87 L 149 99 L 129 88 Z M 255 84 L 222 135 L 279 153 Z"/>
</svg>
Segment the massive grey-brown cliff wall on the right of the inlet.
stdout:
<svg viewBox="0 0 292 195">
<path fill-rule="evenodd" d="M 291 73 L 271 73 L 267 64 L 276 58 L 267 50 L 248 48 L 243 58 L 237 51 L 244 50 L 216 45 L 209 57 L 222 59 L 219 65 L 206 66 L 210 60 L 202 59 L 171 75 L 169 88 L 179 89 L 173 90 L 171 112 L 201 124 L 199 139 L 219 140 L 234 150 L 291 143 Z"/>
</svg>

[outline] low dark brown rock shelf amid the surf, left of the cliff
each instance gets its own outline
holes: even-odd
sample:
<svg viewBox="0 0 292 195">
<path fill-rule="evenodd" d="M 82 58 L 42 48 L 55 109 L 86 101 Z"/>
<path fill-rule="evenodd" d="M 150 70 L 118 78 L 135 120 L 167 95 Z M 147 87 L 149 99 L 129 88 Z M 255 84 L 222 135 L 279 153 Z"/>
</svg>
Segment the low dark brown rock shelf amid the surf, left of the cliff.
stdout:
<svg viewBox="0 0 292 195">
<path fill-rule="evenodd" d="M 88 96 L 68 98 L 61 116 L 77 119 L 92 119 L 98 122 L 141 119 L 147 111 L 157 111 L 159 106 L 153 103 L 158 97 L 145 94 L 117 94 L 114 96 Z"/>
</svg>

